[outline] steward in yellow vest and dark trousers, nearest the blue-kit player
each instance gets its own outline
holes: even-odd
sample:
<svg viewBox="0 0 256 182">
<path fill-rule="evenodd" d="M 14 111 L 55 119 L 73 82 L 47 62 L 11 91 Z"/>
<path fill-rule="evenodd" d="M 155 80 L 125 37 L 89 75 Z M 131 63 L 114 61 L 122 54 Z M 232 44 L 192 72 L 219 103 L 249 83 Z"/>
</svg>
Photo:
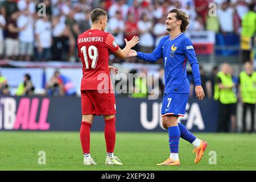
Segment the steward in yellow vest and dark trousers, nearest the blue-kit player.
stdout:
<svg viewBox="0 0 256 182">
<path fill-rule="evenodd" d="M 236 87 L 232 80 L 232 68 L 229 64 L 221 65 L 217 73 L 217 85 L 214 90 L 214 100 L 219 101 L 218 132 L 228 132 L 231 121 L 231 131 L 236 132 L 236 104 L 237 96 L 233 88 Z"/>
</svg>

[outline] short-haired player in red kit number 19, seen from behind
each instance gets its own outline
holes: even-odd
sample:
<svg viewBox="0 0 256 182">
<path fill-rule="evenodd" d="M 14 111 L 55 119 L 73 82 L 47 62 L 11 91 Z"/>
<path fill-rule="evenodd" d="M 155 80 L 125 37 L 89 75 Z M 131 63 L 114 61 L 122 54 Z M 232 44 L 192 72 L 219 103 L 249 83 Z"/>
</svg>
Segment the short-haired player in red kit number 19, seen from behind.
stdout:
<svg viewBox="0 0 256 182">
<path fill-rule="evenodd" d="M 77 38 L 78 56 L 82 61 L 81 109 L 82 122 L 80 140 L 84 154 L 84 165 L 96 164 L 90 156 L 90 127 L 94 115 L 103 115 L 105 120 L 106 165 L 122 165 L 114 156 L 115 146 L 115 97 L 110 71 L 117 69 L 108 65 L 109 53 L 124 59 L 139 38 L 134 36 L 119 48 L 111 34 L 105 32 L 108 16 L 105 10 L 94 9 L 90 14 L 92 27 Z"/>
</svg>

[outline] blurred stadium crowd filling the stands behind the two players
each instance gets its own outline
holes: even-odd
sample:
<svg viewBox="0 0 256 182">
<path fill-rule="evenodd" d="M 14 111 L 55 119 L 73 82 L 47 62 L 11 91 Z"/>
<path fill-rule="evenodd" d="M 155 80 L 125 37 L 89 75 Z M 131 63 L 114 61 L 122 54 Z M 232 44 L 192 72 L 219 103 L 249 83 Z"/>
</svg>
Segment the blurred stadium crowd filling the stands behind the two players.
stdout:
<svg viewBox="0 0 256 182">
<path fill-rule="evenodd" d="M 139 36 L 138 51 L 151 52 L 167 35 L 165 18 L 173 8 L 184 10 L 190 19 L 188 31 L 212 30 L 240 34 L 241 20 L 251 0 L 6 0 L 0 1 L 0 59 L 77 59 L 76 39 L 90 27 L 90 11 L 108 11 L 108 32 L 122 48 L 124 38 Z M 44 4 L 40 4 L 44 3 Z M 217 11 L 209 8 L 217 5 Z M 44 8 L 45 7 L 45 11 Z M 215 6 L 213 6 L 215 7 Z M 208 13 L 208 11 L 211 11 Z M 209 15 L 210 13 L 213 14 Z M 136 58 L 119 60 L 139 62 Z"/>
</svg>

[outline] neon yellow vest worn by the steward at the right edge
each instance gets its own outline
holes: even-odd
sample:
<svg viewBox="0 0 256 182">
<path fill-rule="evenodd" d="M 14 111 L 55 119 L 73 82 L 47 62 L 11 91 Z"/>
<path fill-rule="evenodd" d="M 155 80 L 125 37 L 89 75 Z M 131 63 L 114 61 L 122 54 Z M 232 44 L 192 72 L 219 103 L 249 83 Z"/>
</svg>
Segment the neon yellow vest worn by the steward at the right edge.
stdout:
<svg viewBox="0 0 256 182">
<path fill-rule="evenodd" d="M 256 72 L 251 76 L 245 71 L 240 73 L 240 86 L 242 101 L 249 104 L 256 103 Z"/>
</svg>

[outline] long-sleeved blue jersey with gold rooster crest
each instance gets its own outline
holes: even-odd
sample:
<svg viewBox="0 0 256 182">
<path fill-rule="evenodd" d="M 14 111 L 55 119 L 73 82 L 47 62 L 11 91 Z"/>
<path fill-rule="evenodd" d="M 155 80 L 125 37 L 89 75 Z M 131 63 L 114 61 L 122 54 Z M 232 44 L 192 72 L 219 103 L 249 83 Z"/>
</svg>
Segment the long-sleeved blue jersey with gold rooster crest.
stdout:
<svg viewBox="0 0 256 182">
<path fill-rule="evenodd" d="M 150 62 L 163 57 L 166 84 L 164 93 L 189 93 L 187 60 L 191 64 L 195 85 L 201 85 L 195 50 L 191 40 L 182 32 L 174 39 L 171 39 L 170 35 L 164 36 L 152 53 L 137 52 L 137 57 Z"/>
</svg>

